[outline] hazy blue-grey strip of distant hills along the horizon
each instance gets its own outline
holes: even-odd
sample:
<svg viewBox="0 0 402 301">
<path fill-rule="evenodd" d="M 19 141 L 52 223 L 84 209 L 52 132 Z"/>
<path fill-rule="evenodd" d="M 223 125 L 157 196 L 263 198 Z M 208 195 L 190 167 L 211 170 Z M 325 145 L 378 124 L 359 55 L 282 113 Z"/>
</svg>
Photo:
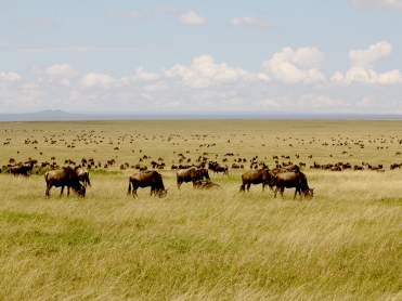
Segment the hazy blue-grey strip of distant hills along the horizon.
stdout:
<svg viewBox="0 0 402 301">
<path fill-rule="evenodd" d="M 368 119 L 402 120 L 397 114 L 87 114 L 47 109 L 35 113 L 0 114 L 0 121 L 135 120 L 135 119 Z"/>
</svg>

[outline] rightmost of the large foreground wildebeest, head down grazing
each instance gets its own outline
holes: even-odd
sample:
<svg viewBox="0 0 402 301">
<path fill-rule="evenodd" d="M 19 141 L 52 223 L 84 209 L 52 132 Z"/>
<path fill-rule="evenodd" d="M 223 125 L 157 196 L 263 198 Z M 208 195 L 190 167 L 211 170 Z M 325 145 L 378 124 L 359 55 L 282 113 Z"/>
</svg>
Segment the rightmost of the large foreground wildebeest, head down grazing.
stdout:
<svg viewBox="0 0 402 301">
<path fill-rule="evenodd" d="M 285 188 L 296 188 L 294 199 L 296 198 L 297 193 L 299 193 L 301 199 L 301 192 L 303 193 L 303 197 L 306 197 L 307 199 L 311 199 L 314 195 L 314 188 L 309 188 L 307 178 L 304 173 L 300 171 L 299 172 L 287 171 L 277 173 L 275 175 L 274 182 L 276 185 L 274 197 L 276 197 L 277 191 L 280 191 L 280 194 L 283 198 L 283 193 Z"/>
</svg>

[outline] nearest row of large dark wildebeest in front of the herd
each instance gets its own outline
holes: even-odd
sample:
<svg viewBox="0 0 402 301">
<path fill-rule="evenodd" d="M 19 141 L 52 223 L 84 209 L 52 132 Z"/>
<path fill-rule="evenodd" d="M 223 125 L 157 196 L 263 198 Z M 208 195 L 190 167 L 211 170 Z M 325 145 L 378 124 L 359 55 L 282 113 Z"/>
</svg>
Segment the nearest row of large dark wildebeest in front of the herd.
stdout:
<svg viewBox="0 0 402 301">
<path fill-rule="evenodd" d="M 36 160 L 29 160 L 28 162 L 11 166 L 9 172 L 14 175 L 29 176 Z M 210 162 L 210 170 L 216 171 L 217 162 Z M 219 166 L 219 165 L 218 165 Z M 228 168 L 223 169 L 223 174 L 228 174 Z M 199 167 L 186 167 L 177 171 L 177 185 L 180 191 L 180 186 L 183 183 L 191 182 L 194 188 L 198 189 L 221 189 L 222 186 L 210 181 L 208 169 L 204 165 Z M 64 187 L 67 187 L 67 196 L 69 195 L 69 188 L 72 188 L 78 196 L 83 197 L 86 195 L 87 185 L 91 186 L 89 171 L 81 167 L 76 166 L 74 168 L 63 167 L 61 169 L 49 170 L 44 173 L 44 180 L 47 183 L 46 196 L 50 196 L 50 189 L 61 187 L 61 195 L 63 195 Z M 297 165 L 290 165 L 286 167 L 277 167 L 270 170 L 267 166 L 258 170 L 250 170 L 242 175 L 242 185 L 239 192 L 244 192 L 247 186 L 249 191 L 250 185 L 262 184 L 262 192 L 268 185 L 273 192 L 274 197 L 280 192 L 283 197 L 285 188 L 295 188 L 295 197 L 299 193 L 300 197 L 311 199 L 313 197 L 313 189 L 309 188 L 306 175 L 299 170 Z M 158 197 L 165 197 L 168 189 L 165 188 L 163 175 L 155 170 L 144 170 L 132 174 L 129 178 L 128 194 L 137 197 L 137 191 L 139 187 L 151 187 L 151 196 L 154 194 Z M 273 189 L 274 187 L 275 191 Z M 302 195 L 301 195 L 302 193 Z"/>
</svg>

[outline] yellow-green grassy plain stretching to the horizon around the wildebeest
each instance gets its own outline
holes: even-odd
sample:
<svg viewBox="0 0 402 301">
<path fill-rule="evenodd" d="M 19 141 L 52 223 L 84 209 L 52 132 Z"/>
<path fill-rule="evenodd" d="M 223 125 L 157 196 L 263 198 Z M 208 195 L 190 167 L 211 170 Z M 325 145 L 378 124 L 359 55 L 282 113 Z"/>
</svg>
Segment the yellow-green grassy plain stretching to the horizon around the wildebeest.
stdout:
<svg viewBox="0 0 402 301">
<path fill-rule="evenodd" d="M 402 170 L 390 169 L 402 162 L 401 129 L 398 120 L 0 122 L 1 166 L 101 162 L 85 198 L 56 187 L 47 198 L 43 174 L 3 169 L 0 300 L 402 300 Z M 228 165 L 229 175 L 209 172 L 222 189 L 179 191 L 170 168 L 179 154 Z M 273 155 L 306 162 L 311 200 L 294 199 L 294 188 L 284 198 L 261 185 L 238 192 L 249 160 L 274 168 Z M 127 195 L 131 166 L 159 158 L 167 196 Z M 245 169 L 232 169 L 239 158 Z"/>
</svg>

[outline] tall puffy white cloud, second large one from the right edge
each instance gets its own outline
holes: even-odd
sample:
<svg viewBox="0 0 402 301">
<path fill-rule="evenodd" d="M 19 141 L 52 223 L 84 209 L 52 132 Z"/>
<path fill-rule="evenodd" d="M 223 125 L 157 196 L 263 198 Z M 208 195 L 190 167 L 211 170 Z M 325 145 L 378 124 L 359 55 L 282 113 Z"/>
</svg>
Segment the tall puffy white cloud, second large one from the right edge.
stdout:
<svg viewBox="0 0 402 301">
<path fill-rule="evenodd" d="M 282 52 L 263 62 L 262 67 L 277 80 L 287 83 L 325 82 L 325 76 L 317 69 L 323 58 L 324 54 L 316 48 L 299 48 L 295 52 L 285 47 Z"/>
</svg>

